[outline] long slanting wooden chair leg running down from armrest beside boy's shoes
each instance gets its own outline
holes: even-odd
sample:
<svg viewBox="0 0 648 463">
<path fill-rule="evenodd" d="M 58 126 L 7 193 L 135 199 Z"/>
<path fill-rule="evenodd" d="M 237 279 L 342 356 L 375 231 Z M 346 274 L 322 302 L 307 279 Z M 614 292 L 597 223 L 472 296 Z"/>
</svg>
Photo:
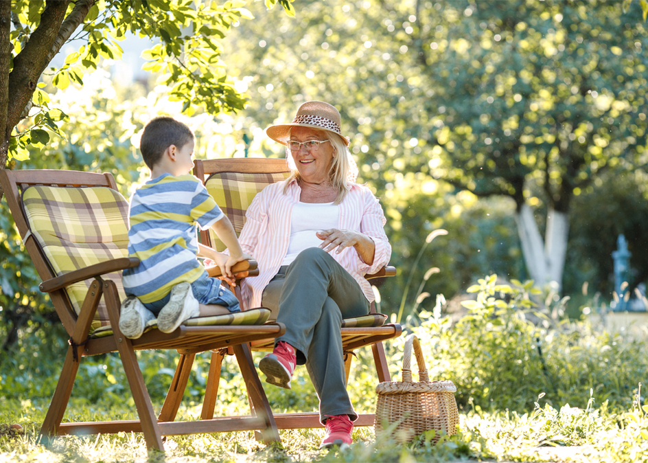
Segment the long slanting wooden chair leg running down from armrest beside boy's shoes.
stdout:
<svg viewBox="0 0 648 463">
<path fill-rule="evenodd" d="M 144 384 L 141 370 L 139 370 L 135 350 L 132 348 L 130 339 L 122 335 L 122 332 L 119 331 L 120 303 L 115 283 L 110 280 L 104 281 L 104 293 L 104 300 L 106 301 L 106 308 L 108 309 L 108 317 L 110 318 L 111 326 L 113 327 L 113 336 L 117 341 L 119 357 L 122 359 L 122 365 L 124 365 L 124 373 L 126 373 L 128 385 L 130 385 L 132 398 L 135 400 L 135 407 L 137 408 L 142 433 L 146 440 L 146 447 L 148 447 L 148 449 L 164 451 L 160 428 L 157 425 L 157 418 L 155 417 L 151 398 L 148 395 L 148 390 Z"/>
</svg>

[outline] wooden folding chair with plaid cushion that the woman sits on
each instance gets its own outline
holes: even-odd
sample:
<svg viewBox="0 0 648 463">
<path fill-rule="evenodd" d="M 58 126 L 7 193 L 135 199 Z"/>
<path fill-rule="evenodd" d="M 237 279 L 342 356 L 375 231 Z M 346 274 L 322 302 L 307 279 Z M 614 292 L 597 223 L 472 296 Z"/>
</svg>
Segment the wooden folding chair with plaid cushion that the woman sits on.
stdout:
<svg viewBox="0 0 648 463">
<path fill-rule="evenodd" d="M 234 229 L 240 234 L 245 223 L 245 212 L 252 202 L 255 194 L 263 190 L 270 183 L 282 181 L 290 175 L 288 163 L 285 159 L 244 158 L 244 159 L 210 159 L 194 161 L 194 175 L 203 183 L 222 211 L 228 216 Z M 205 245 L 224 249 L 222 242 L 215 234 L 209 231 L 201 232 L 200 240 Z M 366 275 L 368 280 L 393 276 L 396 269 L 391 266 L 384 267 L 374 275 Z M 240 297 L 240 285 L 235 286 Z M 399 324 L 384 324 L 386 315 L 376 313 L 375 304 L 371 303 L 369 315 L 343 320 L 342 343 L 345 352 L 345 370 L 347 382 L 351 370 L 353 351 L 362 346 L 371 346 L 373 359 L 379 381 L 391 381 L 389 369 L 384 354 L 382 341 L 399 337 L 402 328 Z M 253 341 L 253 350 L 273 350 L 273 339 Z M 218 368 L 216 365 L 215 368 Z M 205 418 L 210 418 L 209 409 L 203 407 Z M 275 422 L 279 429 L 301 429 L 308 427 L 322 427 L 318 413 L 275 414 Z M 373 426 L 374 414 L 360 414 L 354 422 L 356 426 Z"/>
</svg>

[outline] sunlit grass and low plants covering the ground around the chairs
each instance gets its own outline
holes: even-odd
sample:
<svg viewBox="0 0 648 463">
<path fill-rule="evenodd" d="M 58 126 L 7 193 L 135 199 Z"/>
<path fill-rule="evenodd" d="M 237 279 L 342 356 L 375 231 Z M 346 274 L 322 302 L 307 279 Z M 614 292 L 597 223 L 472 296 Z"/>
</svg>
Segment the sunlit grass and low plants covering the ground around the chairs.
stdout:
<svg viewBox="0 0 648 463">
<path fill-rule="evenodd" d="M 646 462 L 648 405 L 645 341 L 612 335 L 586 321 L 555 319 L 533 309 L 528 283 L 472 287 L 476 300 L 456 323 L 437 304 L 408 317 L 421 340 L 431 379 L 450 379 L 460 409 L 459 432 L 432 444 L 432 435 L 396 444 L 373 428 L 354 431 L 344 451 L 320 451 L 322 429 L 281 431 L 283 447 L 265 447 L 252 432 L 173 436 L 165 453 L 147 452 L 141 434 L 56 438 L 38 442 L 54 392 L 65 338 L 53 330 L 23 333 L 11 356 L 0 359 L 0 463 L 3 462 Z M 535 311 L 534 311 L 535 310 Z M 555 311 L 553 311 L 555 312 Z M 533 323 L 531 319 L 535 319 Z M 386 343 L 394 381 L 400 379 L 404 337 Z M 40 347 L 39 347 L 40 346 Z M 257 355 L 257 354 L 255 354 Z M 259 357 L 255 359 L 257 363 Z M 159 411 L 177 356 L 138 352 Z M 377 379 L 371 351 L 358 350 L 349 395 L 358 411 L 373 411 Z M 200 416 L 209 356 L 197 356 L 178 419 Z M 134 403 L 114 354 L 84 359 L 64 420 L 133 419 Z M 415 374 L 416 376 L 416 374 Z M 305 368 L 293 390 L 267 387 L 277 412 L 314 411 L 317 398 Z M 231 357 L 223 363 L 217 415 L 246 414 L 244 384 Z M 18 424 L 22 433 L 10 425 Z"/>
</svg>

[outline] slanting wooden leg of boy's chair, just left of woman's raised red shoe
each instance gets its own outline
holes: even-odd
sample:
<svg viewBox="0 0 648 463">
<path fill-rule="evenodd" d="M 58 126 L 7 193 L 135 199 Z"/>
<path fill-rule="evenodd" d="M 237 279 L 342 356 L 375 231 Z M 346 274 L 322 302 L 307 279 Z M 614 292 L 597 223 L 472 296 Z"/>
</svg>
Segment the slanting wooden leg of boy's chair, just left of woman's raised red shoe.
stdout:
<svg viewBox="0 0 648 463">
<path fill-rule="evenodd" d="M 273 411 L 270 409 L 266 392 L 264 392 L 261 380 L 254 366 L 250 346 L 248 344 L 234 346 L 234 354 L 241 369 L 246 388 L 248 389 L 248 397 L 254 408 L 253 412 L 266 422 L 266 427 L 262 430 L 264 444 L 269 444 L 270 442 L 279 442 L 281 444 L 275 416 L 273 416 Z"/>
</svg>

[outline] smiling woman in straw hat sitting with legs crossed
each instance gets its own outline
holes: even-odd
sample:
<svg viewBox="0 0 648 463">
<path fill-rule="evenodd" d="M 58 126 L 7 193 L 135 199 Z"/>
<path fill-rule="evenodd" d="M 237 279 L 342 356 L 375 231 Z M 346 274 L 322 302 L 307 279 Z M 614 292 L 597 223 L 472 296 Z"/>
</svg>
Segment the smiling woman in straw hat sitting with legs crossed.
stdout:
<svg viewBox="0 0 648 463">
<path fill-rule="evenodd" d="M 334 106 L 305 102 L 292 124 L 266 133 L 287 147 L 292 175 L 255 196 L 240 235 L 243 251 L 259 263 L 259 275 L 244 280 L 244 297 L 286 325 L 259 369 L 268 383 L 290 389 L 295 365 L 305 364 L 326 428 L 321 447 L 351 444 L 358 415 L 347 394 L 340 326 L 369 313 L 373 291 L 363 275 L 391 254 L 384 214 L 355 182 Z"/>
</svg>

